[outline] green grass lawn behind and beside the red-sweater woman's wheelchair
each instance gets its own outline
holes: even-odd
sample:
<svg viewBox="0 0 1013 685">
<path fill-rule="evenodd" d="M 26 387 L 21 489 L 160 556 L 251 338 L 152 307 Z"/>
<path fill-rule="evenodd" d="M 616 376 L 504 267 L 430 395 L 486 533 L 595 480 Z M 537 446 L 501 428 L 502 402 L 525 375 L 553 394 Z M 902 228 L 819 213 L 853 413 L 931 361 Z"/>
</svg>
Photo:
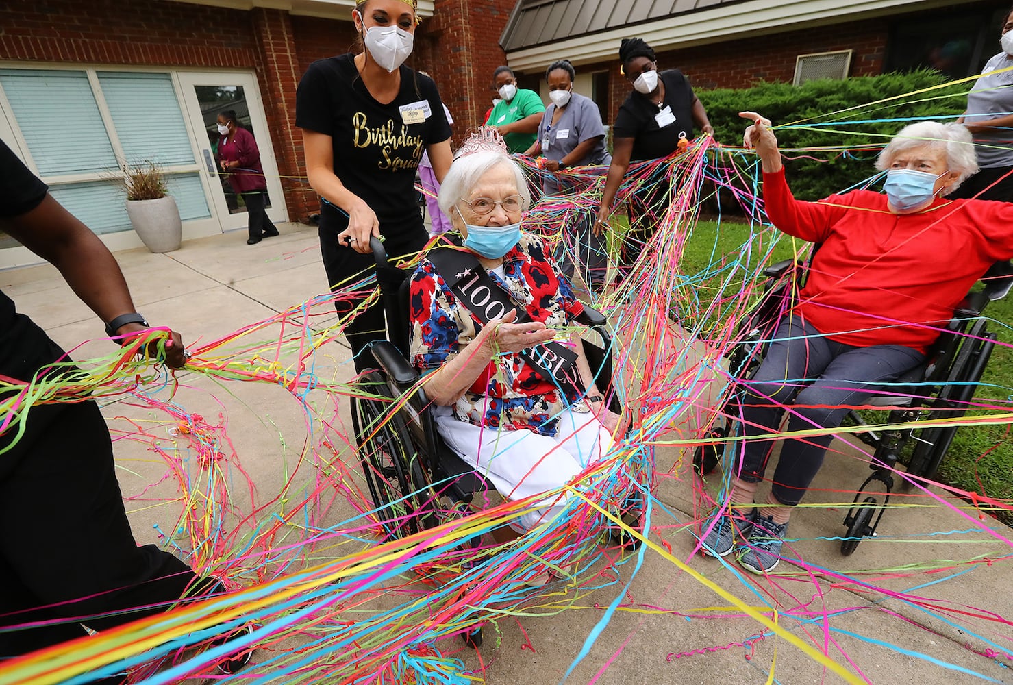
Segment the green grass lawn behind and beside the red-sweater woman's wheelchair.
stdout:
<svg viewBox="0 0 1013 685">
<path fill-rule="evenodd" d="M 686 292 L 677 297 L 684 321 L 698 323 L 702 330 L 720 329 L 723 321 L 720 308 L 708 312 L 711 300 L 741 288 L 747 273 L 758 273 L 760 263 L 773 263 L 794 254 L 789 237 L 783 236 L 770 246 L 773 234 L 761 232 L 750 239 L 749 226 L 733 221 L 700 221 L 687 240 L 681 272 L 688 277 Z M 744 242 L 751 254 L 743 250 Z M 767 254 L 767 252 L 770 252 Z M 729 264 L 742 260 L 748 265 L 728 278 Z M 723 287 L 722 287 L 723 286 Z M 992 319 L 990 327 L 999 334 L 1000 342 L 1013 341 L 1013 295 L 993 302 L 986 310 Z M 706 334 L 706 333 L 705 333 Z M 997 346 L 976 398 L 988 402 L 1008 403 L 1013 400 L 1013 350 Z M 983 410 L 979 413 L 993 413 Z M 885 416 L 882 418 L 885 421 Z M 936 478 L 962 490 L 983 493 L 1007 504 L 1013 502 L 1013 441 L 1010 425 L 963 428 L 957 431 L 953 445 L 940 466 Z M 999 518 L 1013 525 L 1013 512 L 1001 511 Z"/>
</svg>

